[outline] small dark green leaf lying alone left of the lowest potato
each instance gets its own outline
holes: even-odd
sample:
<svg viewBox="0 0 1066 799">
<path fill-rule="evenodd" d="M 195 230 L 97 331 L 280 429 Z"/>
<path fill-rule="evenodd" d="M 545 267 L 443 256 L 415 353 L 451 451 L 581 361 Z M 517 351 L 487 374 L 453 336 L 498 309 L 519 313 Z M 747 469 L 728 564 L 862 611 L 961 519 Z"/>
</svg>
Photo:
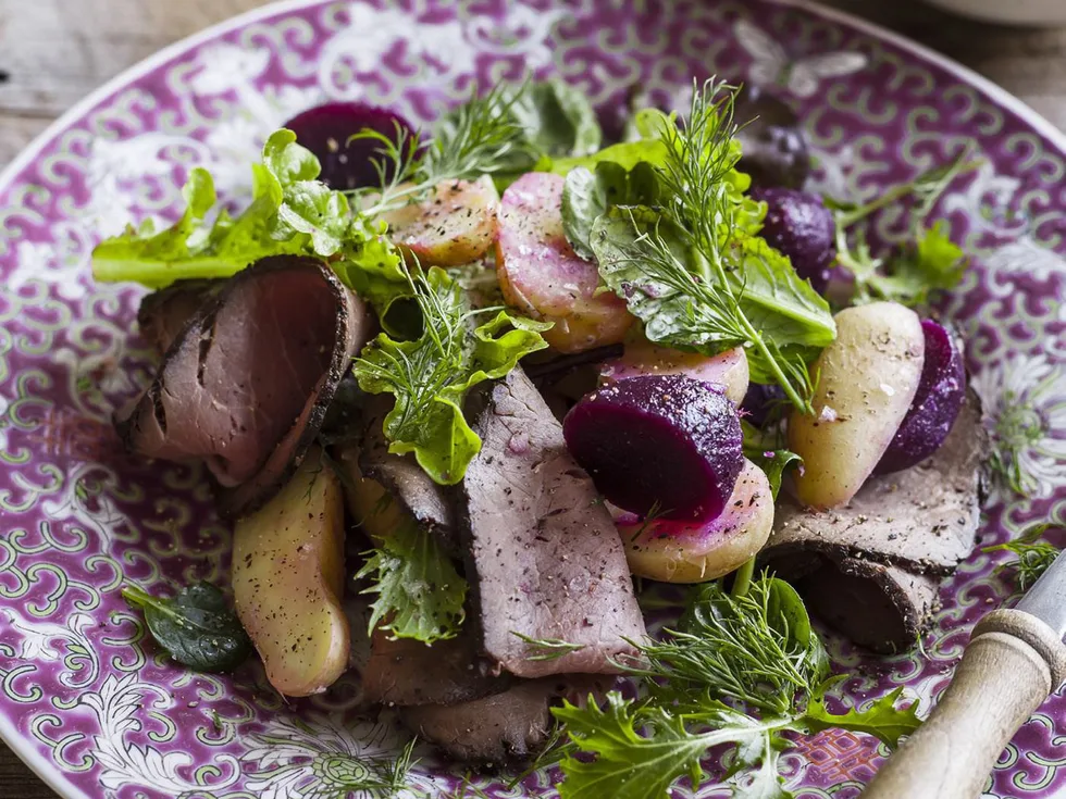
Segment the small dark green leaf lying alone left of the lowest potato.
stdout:
<svg viewBox="0 0 1066 799">
<path fill-rule="evenodd" d="M 194 583 L 171 599 L 126 586 L 122 598 L 145 613 L 156 641 L 171 658 L 198 672 L 232 672 L 251 654 L 251 641 L 225 597 L 210 583 Z"/>
</svg>

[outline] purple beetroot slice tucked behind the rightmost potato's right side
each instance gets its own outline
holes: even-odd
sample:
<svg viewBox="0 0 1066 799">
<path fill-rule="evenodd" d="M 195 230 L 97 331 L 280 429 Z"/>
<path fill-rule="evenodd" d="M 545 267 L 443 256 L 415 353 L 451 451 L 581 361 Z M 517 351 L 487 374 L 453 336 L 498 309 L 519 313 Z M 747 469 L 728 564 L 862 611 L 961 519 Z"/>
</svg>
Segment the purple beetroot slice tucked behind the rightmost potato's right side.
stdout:
<svg viewBox="0 0 1066 799">
<path fill-rule="evenodd" d="M 966 399 L 966 366 L 955 337 L 944 325 L 924 320 L 926 360 L 918 391 L 875 474 L 909 469 L 940 449 Z"/>
</svg>

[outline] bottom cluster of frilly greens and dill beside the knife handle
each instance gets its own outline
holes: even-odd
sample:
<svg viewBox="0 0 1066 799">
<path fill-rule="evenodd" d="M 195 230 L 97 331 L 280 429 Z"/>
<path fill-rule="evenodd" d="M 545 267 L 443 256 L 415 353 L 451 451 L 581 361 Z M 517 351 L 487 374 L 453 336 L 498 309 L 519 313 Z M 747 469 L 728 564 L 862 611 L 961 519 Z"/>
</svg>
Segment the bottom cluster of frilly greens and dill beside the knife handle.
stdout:
<svg viewBox="0 0 1066 799">
<path fill-rule="evenodd" d="M 646 665 L 631 666 L 643 697 L 611 691 L 605 706 L 566 702 L 562 799 L 665 796 L 689 776 L 698 787 L 701 760 L 714 746 L 734 747 L 729 772 L 740 799 L 788 799 L 779 759 L 792 741 L 840 727 L 896 746 L 920 721 L 917 706 L 896 706 L 901 690 L 844 714 L 826 707 L 829 660 L 803 601 L 786 583 L 764 575 L 744 597 L 711 583 L 698 588 L 675 631 L 640 645 Z"/>
</svg>

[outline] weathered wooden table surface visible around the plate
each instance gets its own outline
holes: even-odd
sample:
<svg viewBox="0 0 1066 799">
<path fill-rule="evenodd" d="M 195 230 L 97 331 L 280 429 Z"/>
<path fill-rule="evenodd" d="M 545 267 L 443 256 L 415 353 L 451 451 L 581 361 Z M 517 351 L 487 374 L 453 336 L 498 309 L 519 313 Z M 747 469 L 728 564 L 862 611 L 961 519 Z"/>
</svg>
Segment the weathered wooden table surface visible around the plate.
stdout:
<svg viewBox="0 0 1066 799">
<path fill-rule="evenodd" d="M 1009 0 L 1004 0 L 1009 2 Z M 261 0 L 0 0 L 0 167 L 97 86 Z M 988 76 L 1066 128 L 1066 28 L 996 27 L 919 0 L 827 0 Z M 0 745 L 0 797 L 54 799 Z"/>
</svg>

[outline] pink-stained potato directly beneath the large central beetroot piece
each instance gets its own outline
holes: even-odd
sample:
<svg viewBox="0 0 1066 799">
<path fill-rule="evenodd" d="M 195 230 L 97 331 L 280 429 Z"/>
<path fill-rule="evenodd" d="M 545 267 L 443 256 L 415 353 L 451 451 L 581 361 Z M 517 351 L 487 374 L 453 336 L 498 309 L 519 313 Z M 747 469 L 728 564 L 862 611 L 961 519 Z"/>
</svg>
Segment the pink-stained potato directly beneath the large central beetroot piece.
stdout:
<svg viewBox="0 0 1066 799">
<path fill-rule="evenodd" d="M 611 509 L 630 571 L 664 583 L 706 583 L 739 569 L 773 528 L 773 495 L 763 470 L 744 461 L 719 516 L 703 524 L 653 520 Z"/>
</svg>

